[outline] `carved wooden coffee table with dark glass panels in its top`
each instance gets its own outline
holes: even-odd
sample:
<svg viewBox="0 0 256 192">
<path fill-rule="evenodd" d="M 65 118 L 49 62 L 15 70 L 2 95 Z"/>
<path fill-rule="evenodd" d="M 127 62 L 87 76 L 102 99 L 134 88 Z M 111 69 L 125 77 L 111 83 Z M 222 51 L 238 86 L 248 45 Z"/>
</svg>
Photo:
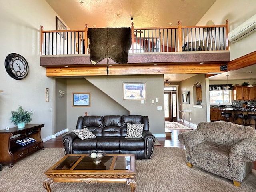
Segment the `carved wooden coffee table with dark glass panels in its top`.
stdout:
<svg viewBox="0 0 256 192">
<path fill-rule="evenodd" d="M 136 189 L 134 154 L 106 154 L 94 164 L 88 154 L 68 154 L 44 174 L 44 188 L 51 192 L 52 182 L 126 183 Z"/>
</svg>

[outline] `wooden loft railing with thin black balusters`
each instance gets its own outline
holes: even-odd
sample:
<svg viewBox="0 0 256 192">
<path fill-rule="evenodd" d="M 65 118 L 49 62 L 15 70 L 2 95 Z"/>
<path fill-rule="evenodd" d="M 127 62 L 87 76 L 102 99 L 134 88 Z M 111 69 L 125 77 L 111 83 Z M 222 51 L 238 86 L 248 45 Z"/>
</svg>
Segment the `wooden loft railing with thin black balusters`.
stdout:
<svg viewBox="0 0 256 192">
<path fill-rule="evenodd" d="M 134 28 L 130 53 L 229 50 L 228 20 L 225 25 Z M 84 30 L 44 31 L 41 55 L 89 54 L 87 24 Z"/>
</svg>

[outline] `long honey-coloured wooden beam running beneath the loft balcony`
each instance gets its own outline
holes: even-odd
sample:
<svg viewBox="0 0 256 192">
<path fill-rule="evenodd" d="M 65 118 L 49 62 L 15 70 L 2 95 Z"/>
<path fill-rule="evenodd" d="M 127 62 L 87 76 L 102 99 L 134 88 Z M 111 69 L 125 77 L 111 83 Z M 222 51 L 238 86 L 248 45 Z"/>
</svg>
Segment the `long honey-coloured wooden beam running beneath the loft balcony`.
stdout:
<svg viewBox="0 0 256 192">
<path fill-rule="evenodd" d="M 111 66 L 109 75 L 222 73 L 220 64 Z M 46 68 L 48 77 L 104 76 L 106 66 Z"/>
</svg>

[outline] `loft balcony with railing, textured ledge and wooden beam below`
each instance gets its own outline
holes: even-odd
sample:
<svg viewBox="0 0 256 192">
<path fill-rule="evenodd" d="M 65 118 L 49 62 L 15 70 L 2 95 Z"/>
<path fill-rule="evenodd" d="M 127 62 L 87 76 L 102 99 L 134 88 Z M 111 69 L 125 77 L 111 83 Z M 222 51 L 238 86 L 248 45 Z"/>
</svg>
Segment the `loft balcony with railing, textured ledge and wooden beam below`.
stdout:
<svg viewBox="0 0 256 192">
<path fill-rule="evenodd" d="M 109 59 L 109 75 L 222 73 L 230 61 L 225 25 L 134 28 L 127 64 Z M 90 61 L 87 25 L 83 30 L 44 31 L 41 60 L 46 76 L 106 75 L 106 58 Z"/>
</svg>

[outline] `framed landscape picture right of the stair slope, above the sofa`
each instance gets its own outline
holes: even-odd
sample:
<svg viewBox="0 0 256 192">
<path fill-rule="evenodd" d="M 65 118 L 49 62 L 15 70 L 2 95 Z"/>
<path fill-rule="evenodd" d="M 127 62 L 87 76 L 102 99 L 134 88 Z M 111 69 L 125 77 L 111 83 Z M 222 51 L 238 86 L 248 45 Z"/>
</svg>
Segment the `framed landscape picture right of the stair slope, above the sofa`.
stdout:
<svg viewBox="0 0 256 192">
<path fill-rule="evenodd" d="M 123 100 L 146 100 L 146 83 L 123 83 Z"/>
</svg>

